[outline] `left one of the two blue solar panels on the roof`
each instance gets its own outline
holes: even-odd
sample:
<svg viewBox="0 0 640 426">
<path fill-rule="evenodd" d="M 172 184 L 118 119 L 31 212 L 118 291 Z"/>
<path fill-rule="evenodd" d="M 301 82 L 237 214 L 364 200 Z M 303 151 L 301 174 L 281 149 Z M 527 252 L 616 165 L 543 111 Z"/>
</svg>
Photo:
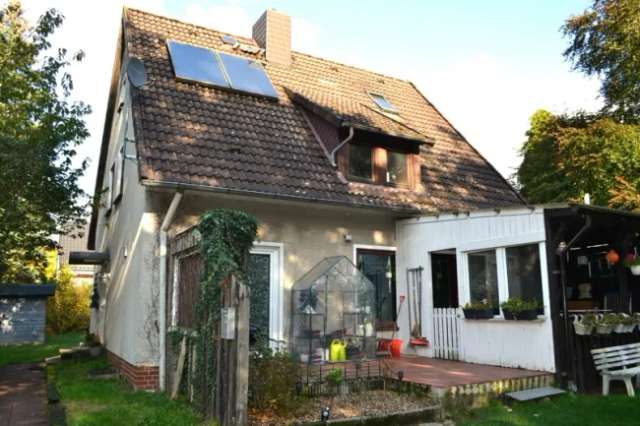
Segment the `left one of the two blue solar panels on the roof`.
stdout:
<svg viewBox="0 0 640 426">
<path fill-rule="evenodd" d="M 167 46 L 177 78 L 230 87 L 213 50 L 173 40 L 169 40 Z"/>
</svg>

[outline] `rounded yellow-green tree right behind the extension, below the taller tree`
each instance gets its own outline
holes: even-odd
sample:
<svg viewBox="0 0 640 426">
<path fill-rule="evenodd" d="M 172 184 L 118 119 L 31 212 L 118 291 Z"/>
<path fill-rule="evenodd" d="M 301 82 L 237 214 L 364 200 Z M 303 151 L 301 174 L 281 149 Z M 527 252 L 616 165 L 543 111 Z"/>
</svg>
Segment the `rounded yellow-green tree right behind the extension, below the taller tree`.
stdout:
<svg viewBox="0 0 640 426">
<path fill-rule="evenodd" d="M 640 209 L 640 126 L 579 113 L 531 117 L 516 172 L 531 203 L 581 202 Z"/>
</svg>

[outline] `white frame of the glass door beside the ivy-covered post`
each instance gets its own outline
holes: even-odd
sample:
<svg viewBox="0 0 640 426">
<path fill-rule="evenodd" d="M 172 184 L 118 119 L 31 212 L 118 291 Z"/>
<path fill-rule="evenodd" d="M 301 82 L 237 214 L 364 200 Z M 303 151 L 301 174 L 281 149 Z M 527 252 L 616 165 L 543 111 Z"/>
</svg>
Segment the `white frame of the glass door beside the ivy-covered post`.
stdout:
<svg viewBox="0 0 640 426">
<path fill-rule="evenodd" d="M 269 265 L 269 346 L 274 350 L 286 348 L 284 335 L 284 244 L 256 241 L 251 254 L 266 254 Z"/>
</svg>

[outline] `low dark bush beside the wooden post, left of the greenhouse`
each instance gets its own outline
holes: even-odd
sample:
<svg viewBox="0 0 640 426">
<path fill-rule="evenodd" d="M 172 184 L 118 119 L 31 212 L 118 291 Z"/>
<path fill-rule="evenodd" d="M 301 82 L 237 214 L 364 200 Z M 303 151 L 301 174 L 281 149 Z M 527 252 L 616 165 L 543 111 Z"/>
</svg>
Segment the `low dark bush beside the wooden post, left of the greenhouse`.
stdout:
<svg viewBox="0 0 640 426">
<path fill-rule="evenodd" d="M 268 348 L 249 359 L 249 407 L 286 415 L 297 406 L 300 366 L 291 354 Z"/>
</svg>

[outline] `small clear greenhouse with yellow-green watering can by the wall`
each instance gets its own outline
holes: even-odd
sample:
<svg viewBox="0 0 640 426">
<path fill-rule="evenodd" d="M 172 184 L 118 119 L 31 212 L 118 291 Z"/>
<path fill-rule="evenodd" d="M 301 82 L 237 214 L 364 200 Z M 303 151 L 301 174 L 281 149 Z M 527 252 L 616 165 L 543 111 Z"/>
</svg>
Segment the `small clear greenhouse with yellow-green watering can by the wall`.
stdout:
<svg viewBox="0 0 640 426">
<path fill-rule="evenodd" d="M 347 257 L 323 259 L 294 285 L 292 315 L 302 363 L 375 357 L 375 287 Z"/>
</svg>

